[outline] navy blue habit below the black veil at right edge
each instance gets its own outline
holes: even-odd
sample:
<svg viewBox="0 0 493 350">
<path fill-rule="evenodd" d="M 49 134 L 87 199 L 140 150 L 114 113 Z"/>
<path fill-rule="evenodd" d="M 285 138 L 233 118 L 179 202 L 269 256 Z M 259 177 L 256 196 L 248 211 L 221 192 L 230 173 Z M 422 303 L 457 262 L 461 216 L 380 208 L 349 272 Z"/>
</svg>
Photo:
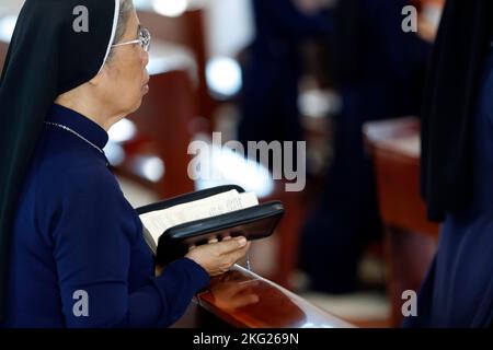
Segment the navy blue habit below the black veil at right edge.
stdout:
<svg viewBox="0 0 493 350">
<path fill-rule="evenodd" d="M 493 54 L 485 65 L 473 129 L 473 195 L 448 214 L 438 252 L 405 326 L 493 324 Z"/>
</svg>

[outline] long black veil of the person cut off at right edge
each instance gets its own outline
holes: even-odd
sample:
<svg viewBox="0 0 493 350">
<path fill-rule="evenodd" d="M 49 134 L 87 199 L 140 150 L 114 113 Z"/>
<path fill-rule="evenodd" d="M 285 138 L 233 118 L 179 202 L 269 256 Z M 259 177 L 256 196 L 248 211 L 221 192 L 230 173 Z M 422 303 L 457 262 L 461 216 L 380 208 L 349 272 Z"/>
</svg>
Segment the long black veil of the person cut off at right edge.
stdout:
<svg viewBox="0 0 493 350">
<path fill-rule="evenodd" d="M 493 1 L 447 1 L 422 113 L 421 189 L 435 221 L 471 199 L 472 121 L 492 27 Z"/>
</svg>

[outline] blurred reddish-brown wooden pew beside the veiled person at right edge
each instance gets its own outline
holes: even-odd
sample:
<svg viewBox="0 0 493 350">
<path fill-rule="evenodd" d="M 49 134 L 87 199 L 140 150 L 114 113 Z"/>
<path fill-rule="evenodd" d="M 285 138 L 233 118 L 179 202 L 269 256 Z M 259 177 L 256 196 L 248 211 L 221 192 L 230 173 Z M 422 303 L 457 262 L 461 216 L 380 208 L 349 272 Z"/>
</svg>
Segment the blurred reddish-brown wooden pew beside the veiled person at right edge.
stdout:
<svg viewBox="0 0 493 350">
<path fill-rule="evenodd" d="M 379 208 L 386 226 L 387 292 L 392 323 L 402 322 L 402 292 L 419 291 L 437 248 L 439 228 L 426 220 L 420 196 L 420 121 L 368 122 L 364 135 L 374 159 Z"/>
</svg>

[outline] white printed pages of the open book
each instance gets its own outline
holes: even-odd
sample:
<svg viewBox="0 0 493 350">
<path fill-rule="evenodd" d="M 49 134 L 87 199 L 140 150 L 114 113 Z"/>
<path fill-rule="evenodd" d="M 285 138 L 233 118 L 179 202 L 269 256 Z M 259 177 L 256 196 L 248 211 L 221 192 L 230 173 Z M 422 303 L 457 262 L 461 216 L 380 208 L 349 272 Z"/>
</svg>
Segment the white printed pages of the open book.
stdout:
<svg viewBox="0 0 493 350">
<path fill-rule="evenodd" d="M 259 200 L 254 192 L 239 194 L 232 189 L 204 199 L 145 213 L 140 215 L 140 220 L 157 245 L 159 236 L 170 228 L 257 205 Z"/>
</svg>

